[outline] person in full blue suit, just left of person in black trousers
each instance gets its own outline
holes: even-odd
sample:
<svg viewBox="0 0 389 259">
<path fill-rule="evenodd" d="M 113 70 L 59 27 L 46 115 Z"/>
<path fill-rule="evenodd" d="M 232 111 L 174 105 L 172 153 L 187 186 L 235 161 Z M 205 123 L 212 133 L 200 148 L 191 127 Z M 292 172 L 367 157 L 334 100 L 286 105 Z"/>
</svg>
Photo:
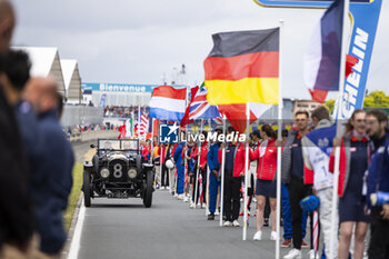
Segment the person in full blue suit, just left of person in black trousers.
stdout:
<svg viewBox="0 0 389 259">
<path fill-rule="evenodd" d="M 217 128 L 215 130 L 217 135 L 222 133 L 221 128 Z M 219 163 L 219 149 L 220 149 L 220 142 L 216 141 L 208 150 L 207 153 L 207 161 L 209 167 L 209 215 L 208 220 L 215 219 L 215 211 L 216 211 L 216 201 L 218 197 L 218 189 L 220 185 L 219 179 L 219 170 L 220 170 L 220 163 Z"/>
</svg>

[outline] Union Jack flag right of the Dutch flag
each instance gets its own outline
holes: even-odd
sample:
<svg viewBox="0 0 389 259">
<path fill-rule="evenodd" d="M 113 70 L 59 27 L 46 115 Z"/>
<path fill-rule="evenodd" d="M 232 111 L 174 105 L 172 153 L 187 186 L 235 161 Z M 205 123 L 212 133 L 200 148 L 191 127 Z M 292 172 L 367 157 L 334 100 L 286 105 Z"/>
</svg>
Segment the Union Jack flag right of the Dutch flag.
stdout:
<svg viewBox="0 0 389 259">
<path fill-rule="evenodd" d="M 215 119 L 220 118 L 220 113 L 216 106 L 209 104 L 207 101 L 208 89 L 201 87 L 196 93 L 193 101 L 190 103 L 189 119 Z"/>
</svg>

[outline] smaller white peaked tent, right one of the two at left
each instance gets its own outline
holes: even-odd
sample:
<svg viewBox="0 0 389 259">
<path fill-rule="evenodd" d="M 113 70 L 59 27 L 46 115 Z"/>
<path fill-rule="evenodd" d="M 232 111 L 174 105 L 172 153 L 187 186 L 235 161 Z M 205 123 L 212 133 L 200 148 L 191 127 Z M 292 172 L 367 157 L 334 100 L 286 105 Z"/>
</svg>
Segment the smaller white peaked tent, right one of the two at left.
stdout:
<svg viewBox="0 0 389 259">
<path fill-rule="evenodd" d="M 61 59 L 67 101 L 80 103 L 82 99 L 81 77 L 76 59 Z"/>
</svg>

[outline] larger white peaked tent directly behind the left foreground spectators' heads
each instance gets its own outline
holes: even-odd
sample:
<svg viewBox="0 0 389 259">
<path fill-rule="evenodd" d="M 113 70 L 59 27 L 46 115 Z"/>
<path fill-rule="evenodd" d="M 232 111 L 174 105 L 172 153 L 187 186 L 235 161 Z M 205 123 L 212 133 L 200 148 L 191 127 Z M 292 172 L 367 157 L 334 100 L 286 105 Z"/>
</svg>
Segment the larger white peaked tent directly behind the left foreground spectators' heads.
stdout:
<svg viewBox="0 0 389 259">
<path fill-rule="evenodd" d="M 32 77 L 51 76 L 58 83 L 58 91 L 66 97 L 61 63 L 57 48 L 44 47 L 12 47 L 16 50 L 26 51 L 31 60 Z"/>
</svg>

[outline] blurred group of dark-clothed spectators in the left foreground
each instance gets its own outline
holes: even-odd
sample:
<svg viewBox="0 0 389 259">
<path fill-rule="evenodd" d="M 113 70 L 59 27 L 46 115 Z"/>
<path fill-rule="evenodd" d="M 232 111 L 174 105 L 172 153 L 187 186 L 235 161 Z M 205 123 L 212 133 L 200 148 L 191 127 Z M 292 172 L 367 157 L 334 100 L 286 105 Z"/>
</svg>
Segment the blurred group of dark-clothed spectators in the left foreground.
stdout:
<svg viewBox="0 0 389 259">
<path fill-rule="evenodd" d="M 30 78 L 28 54 L 9 49 L 14 24 L 0 0 L 0 258 L 59 258 L 73 152 L 56 81 Z"/>
</svg>

